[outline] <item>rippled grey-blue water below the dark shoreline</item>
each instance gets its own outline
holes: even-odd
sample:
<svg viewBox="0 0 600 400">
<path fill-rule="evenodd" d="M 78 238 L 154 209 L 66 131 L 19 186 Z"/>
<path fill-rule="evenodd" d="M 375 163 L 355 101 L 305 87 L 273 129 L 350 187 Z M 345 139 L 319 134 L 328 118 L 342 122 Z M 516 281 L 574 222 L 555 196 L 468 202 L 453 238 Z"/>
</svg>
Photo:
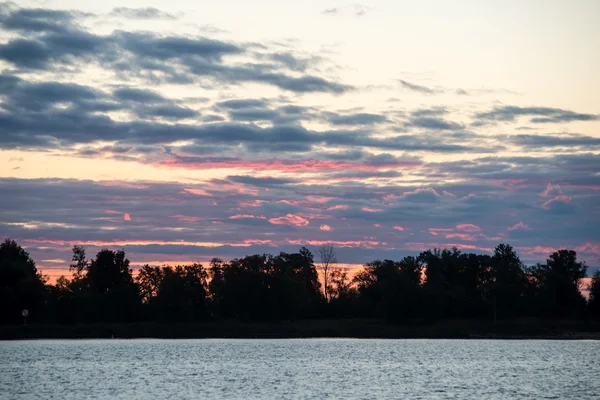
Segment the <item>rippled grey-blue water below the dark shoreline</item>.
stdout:
<svg viewBox="0 0 600 400">
<path fill-rule="evenodd" d="M 0 398 L 597 399 L 599 356 L 598 341 L 0 341 Z"/>
</svg>

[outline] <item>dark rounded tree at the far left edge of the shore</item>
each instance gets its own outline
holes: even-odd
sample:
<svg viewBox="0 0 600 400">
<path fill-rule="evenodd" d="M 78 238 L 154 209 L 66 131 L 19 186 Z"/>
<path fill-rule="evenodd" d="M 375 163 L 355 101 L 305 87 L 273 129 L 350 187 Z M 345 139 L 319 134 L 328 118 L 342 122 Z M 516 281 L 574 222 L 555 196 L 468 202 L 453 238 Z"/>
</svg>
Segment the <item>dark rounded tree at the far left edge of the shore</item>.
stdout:
<svg viewBox="0 0 600 400">
<path fill-rule="evenodd" d="M 14 240 L 0 244 L 0 323 L 19 323 L 21 310 L 27 309 L 30 319 L 38 317 L 44 295 L 45 279 L 35 262 Z"/>
</svg>

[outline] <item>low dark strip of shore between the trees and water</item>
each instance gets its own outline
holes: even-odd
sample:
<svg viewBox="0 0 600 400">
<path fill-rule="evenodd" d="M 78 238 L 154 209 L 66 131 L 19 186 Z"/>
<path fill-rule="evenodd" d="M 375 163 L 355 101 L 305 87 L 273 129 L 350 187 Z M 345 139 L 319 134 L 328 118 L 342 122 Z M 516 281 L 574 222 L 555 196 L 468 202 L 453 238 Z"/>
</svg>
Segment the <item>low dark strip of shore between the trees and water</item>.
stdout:
<svg viewBox="0 0 600 400">
<path fill-rule="evenodd" d="M 0 340 L 93 338 L 364 338 L 364 339 L 556 339 L 600 340 L 600 323 L 581 321 L 444 320 L 387 324 L 379 320 L 300 320 L 278 323 L 29 324 L 0 327 Z"/>
</svg>

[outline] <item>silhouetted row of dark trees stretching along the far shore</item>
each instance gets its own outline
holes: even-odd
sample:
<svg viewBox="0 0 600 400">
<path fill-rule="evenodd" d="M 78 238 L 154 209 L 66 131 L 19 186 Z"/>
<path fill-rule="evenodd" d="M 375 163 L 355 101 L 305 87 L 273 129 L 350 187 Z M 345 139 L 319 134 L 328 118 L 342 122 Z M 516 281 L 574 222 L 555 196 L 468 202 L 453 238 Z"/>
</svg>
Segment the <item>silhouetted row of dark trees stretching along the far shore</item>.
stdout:
<svg viewBox="0 0 600 400">
<path fill-rule="evenodd" d="M 600 272 L 580 287 L 585 263 L 559 250 L 546 263 L 525 266 L 515 250 L 493 255 L 433 249 L 399 261 L 375 260 L 350 276 L 335 249 L 315 256 L 261 254 L 208 266 L 143 266 L 137 274 L 123 250 L 88 259 L 73 247 L 70 278 L 55 284 L 15 241 L 0 244 L 0 324 L 209 320 L 286 321 L 377 318 L 390 323 L 442 318 L 600 319 Z"/>
</svg>

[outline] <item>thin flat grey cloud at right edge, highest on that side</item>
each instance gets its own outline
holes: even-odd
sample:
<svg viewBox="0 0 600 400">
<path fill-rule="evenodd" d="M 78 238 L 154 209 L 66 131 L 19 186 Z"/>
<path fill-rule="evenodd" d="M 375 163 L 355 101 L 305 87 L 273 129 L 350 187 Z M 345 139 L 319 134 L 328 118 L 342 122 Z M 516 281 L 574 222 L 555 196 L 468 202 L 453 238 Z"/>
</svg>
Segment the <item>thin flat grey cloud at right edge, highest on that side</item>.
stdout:
<svg viewBox="0 0 600 400">
<path fill-rule="evenodd" d="M 561 123 L 598 120 L 598 115 L 577 113 L 560 108 L 518 106 L 495 107 L 492 111 L 477 114 L 476 118 L 480 119 L 481 122 L 512 122 L 518 117 L 522 116 L 534 117 L 530 120 L 532 123 Z"/>
</svg>

